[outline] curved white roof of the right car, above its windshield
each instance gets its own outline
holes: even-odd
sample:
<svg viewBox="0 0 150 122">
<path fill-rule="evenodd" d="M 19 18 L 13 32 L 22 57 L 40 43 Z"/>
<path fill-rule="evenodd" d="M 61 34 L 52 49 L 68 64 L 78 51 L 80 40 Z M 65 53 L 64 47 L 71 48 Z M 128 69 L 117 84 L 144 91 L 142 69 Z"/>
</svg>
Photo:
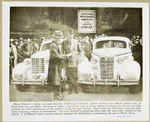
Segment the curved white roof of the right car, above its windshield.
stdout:
<svg viewBox="0 0 150 122">
<path fill-rule="evenodd" d="M 130 42 L 130 40 L 127 37 L 122 37 L 122 36 L 107 36 L 107 37 L 100 37 L 94 40 L 94 42 L 97 41 L 103 41 L 103 40 L 123 40 L 126 42 Z"/>
</svg>

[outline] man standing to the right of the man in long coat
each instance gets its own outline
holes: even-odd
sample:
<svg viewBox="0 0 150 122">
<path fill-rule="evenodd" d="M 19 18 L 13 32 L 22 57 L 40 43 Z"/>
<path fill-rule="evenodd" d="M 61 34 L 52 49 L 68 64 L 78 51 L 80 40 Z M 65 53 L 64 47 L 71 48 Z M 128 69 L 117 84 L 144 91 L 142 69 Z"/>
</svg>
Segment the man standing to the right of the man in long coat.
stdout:
<svg viewBox="0 0 150 122">
<path fill-rule="evenodd" d="M 74 31 L 67 31 L 67 39 L 62 42 L 62 52 L 66 56 L 65 67 L 68 78 L 68 94 L 77 92 L 77 55 L 81 51 L 78 40 L 73 39 Z"/>
</svg>

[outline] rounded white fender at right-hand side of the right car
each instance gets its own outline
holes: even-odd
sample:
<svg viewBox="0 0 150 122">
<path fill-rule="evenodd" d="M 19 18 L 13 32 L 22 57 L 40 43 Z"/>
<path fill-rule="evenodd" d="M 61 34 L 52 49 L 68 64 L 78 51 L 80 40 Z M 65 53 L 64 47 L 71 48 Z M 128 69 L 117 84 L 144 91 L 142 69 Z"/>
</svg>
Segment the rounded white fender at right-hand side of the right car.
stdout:
<svg viewBox="0 0 150 122">
<path fill-rule="evenodd" d="M 136 80 L 140 78 L 140 65 L 136 61 L 129 61 L 120 70 L 120 78 L 123 80 Z"/>
</svg>

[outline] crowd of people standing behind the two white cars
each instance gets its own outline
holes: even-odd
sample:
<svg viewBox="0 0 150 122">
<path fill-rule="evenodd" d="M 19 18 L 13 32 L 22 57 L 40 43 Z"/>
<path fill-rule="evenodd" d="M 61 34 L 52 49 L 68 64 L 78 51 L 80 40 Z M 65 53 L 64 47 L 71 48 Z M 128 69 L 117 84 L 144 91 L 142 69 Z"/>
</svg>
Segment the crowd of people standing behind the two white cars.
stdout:
<svg viewBox="0 0 150 122">
<path fill-rule="evenodd" d="M 92 53 L 92 43 L 95 39 L 106 37 L 106 34 L 101 35 L 95 35 L 94 38 L 91 38 L 89 36 L 85 37 L 75 37 L 76 40 L 81 45 L 81 49 L 84 52 L 84 55 L 90 60 L 91 53 Z M 65 37 L 64 37 L 65 38 Z M 44 42 L 46 39 L 45 37 L 41 37 L 40 39 L 36 39 L 33 37 L 33 39 L 27 38 L 19 38 L 19 39 L 10 39 L 9 45 L 10 45 L 10 63 L 11 66 L 14 67 L 17 63 L 23 62 L 25 58 L 29 58 L 32 54 L 34 54 L 36 51 L 39 51 L 40 46 L 42 42 Z M 131 39 L 131 51 L 133 52 L 133 57 L 135 60 L 138 61 L 138 58 L 141 58 L 142 54 L 139 54 L 141 52 L 142 48 L 142 37 L 140 36 L 133 36 Z M 140 55 L 140 56 L 139 56 Z M 12 60 L 13 59 L 13 60 Z M 138 61 L 140 64 L 142 62 Z"/>
</svg>

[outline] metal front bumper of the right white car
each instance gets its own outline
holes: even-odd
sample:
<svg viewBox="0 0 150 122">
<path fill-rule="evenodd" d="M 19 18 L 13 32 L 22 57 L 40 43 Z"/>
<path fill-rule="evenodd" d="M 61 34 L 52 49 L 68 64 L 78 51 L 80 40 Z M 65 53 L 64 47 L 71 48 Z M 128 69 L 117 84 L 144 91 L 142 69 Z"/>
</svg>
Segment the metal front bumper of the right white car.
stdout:
<svg viewBox="0 0 150 122">
<path fill-rule="evenodd" d="M 79 84 L 88 85 L 137 85 L 139 81 L 135 80 L 77 80 Z"/>
</svg>

